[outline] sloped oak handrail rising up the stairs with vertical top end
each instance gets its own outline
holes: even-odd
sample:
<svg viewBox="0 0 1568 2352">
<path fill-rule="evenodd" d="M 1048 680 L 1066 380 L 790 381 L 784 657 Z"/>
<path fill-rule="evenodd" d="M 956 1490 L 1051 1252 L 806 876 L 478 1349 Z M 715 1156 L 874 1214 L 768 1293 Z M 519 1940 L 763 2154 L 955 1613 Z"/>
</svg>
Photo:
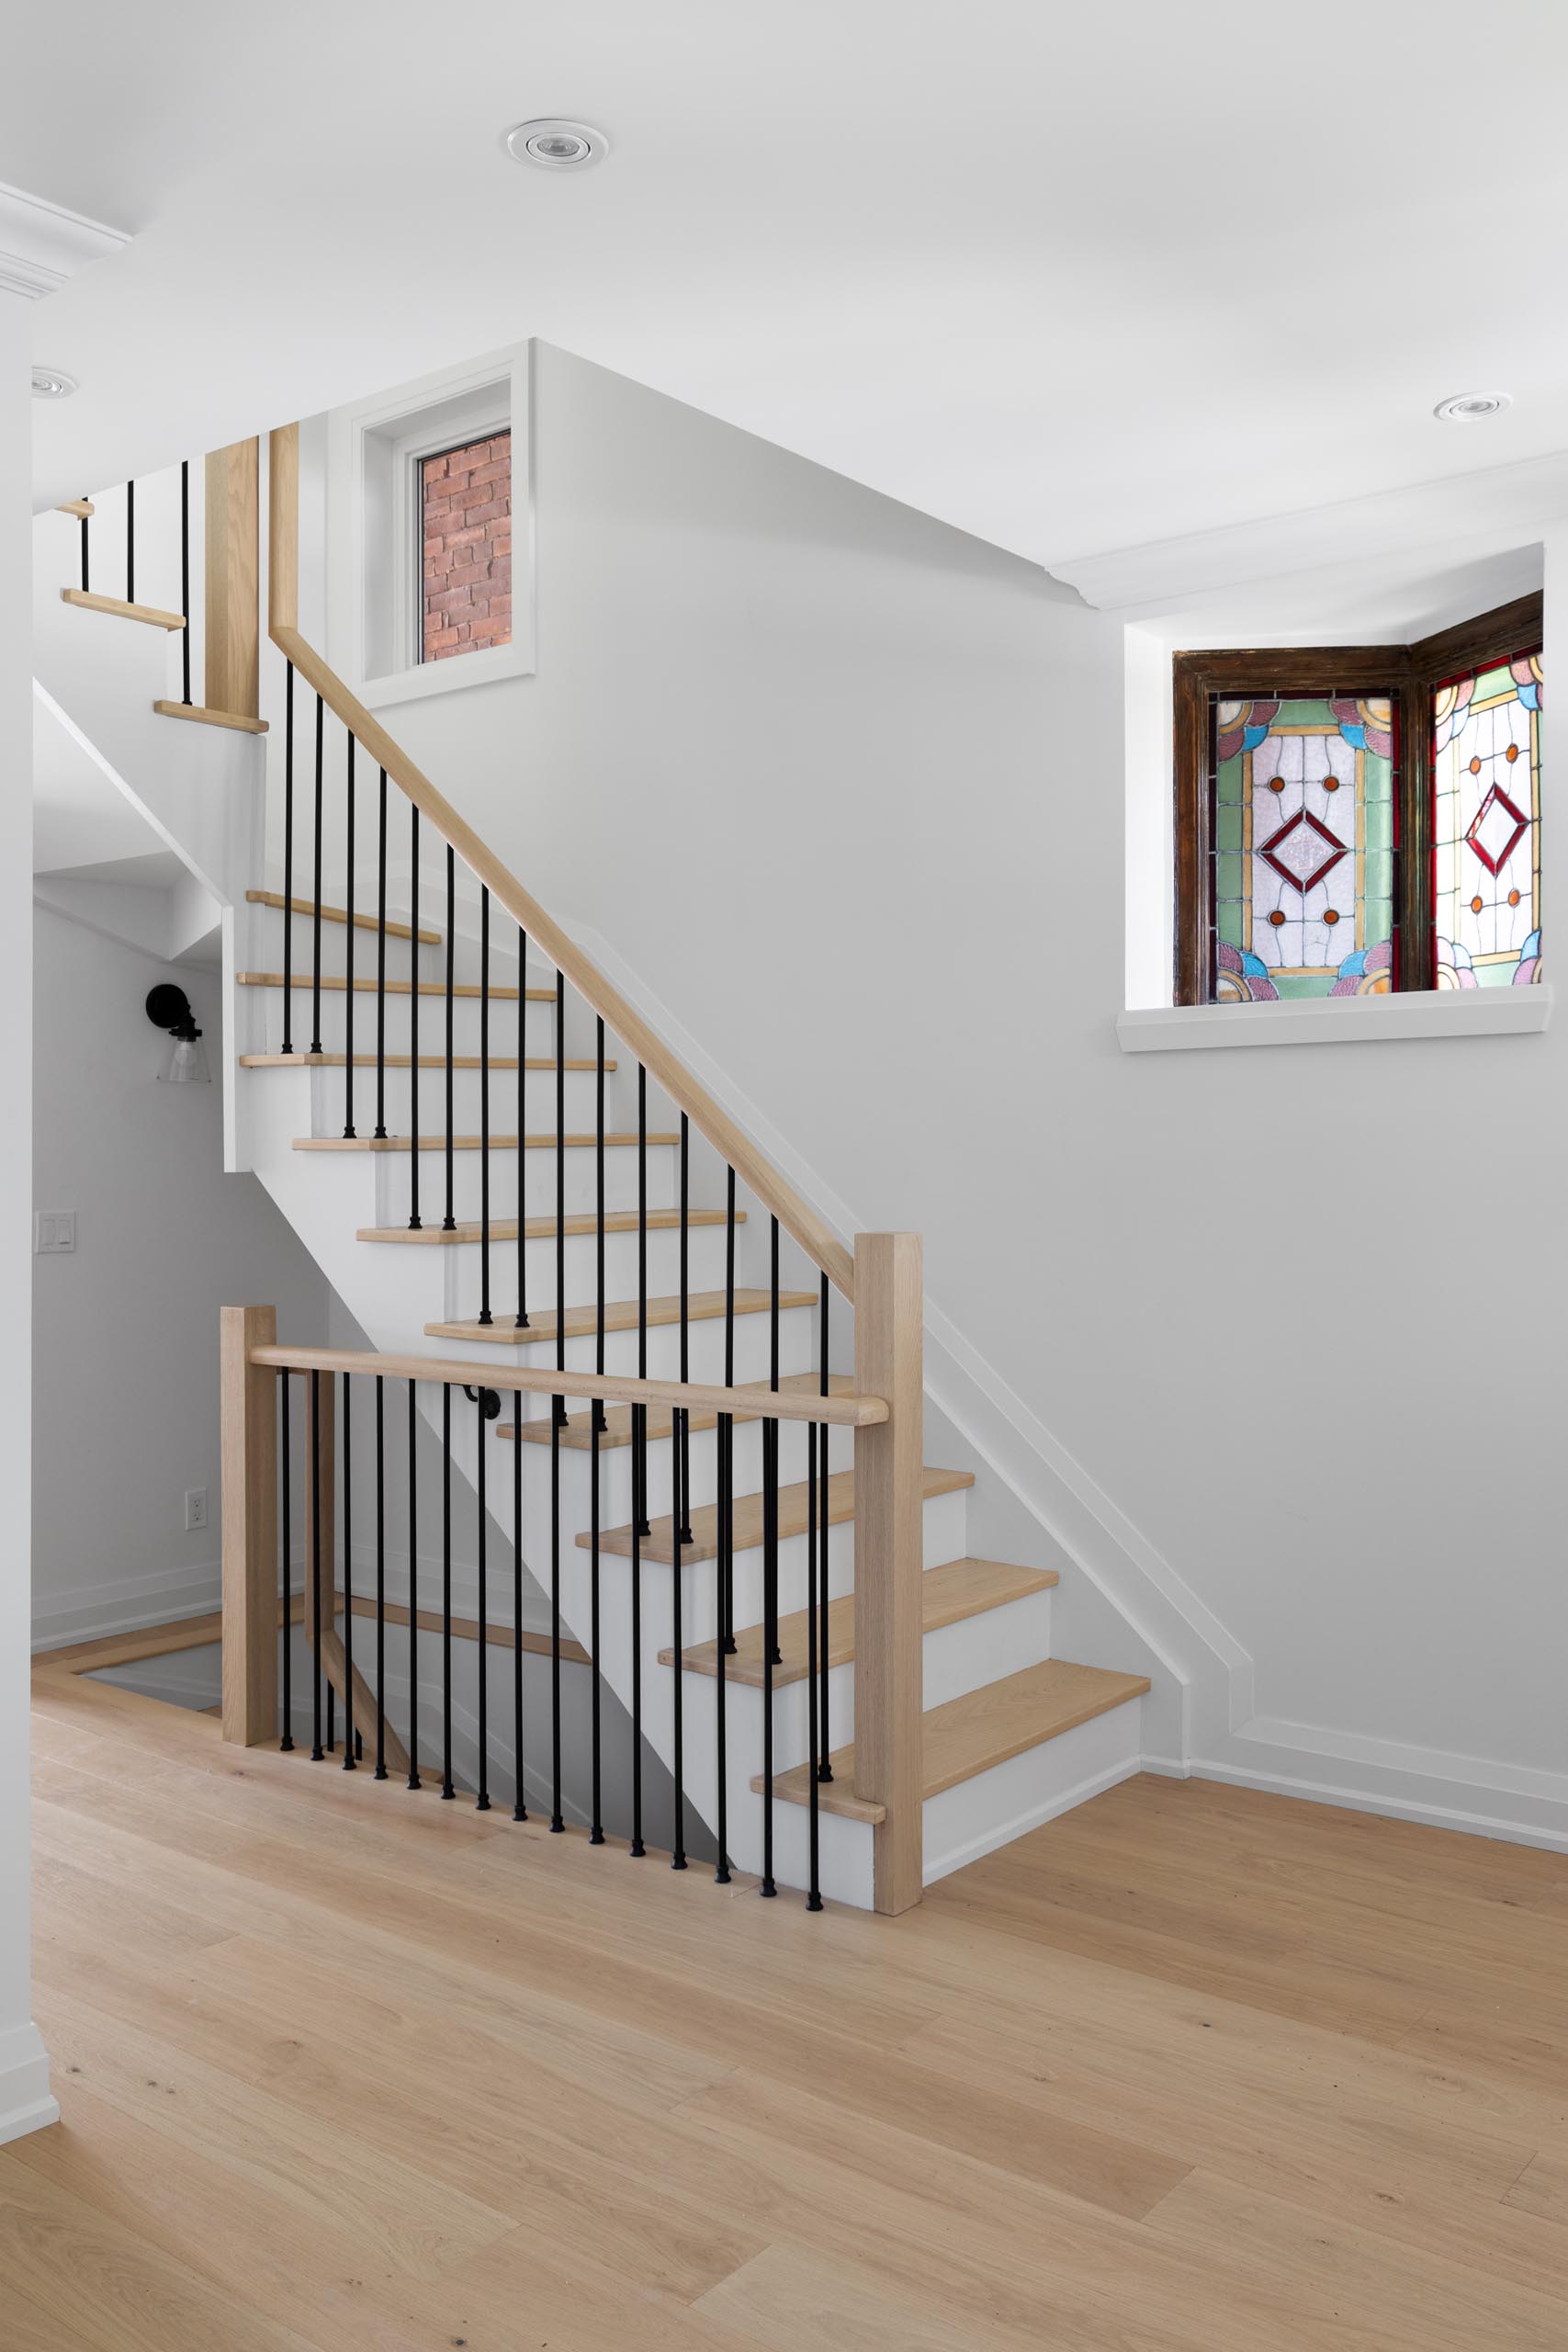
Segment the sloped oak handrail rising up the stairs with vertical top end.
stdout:
<svg viewBox="0 0 1568 2352">
<path fill-rule="evenodd" d="M 430 779 L 409 760 L 386 727 L 348 691 L 336 670 L 327 668 L 313 644 L 299 633 L 299 426 L 282 426 L 270 440 L 270 581 L 268 581 L 268 633 L 273 644 L 294 663 L 299 675 L 322 696 L 327 708 L 348 727 L 355 741 L 383 767 L 393 783 L 414 802 L 440 837 L 456 849 L 468 870 L 489 889 L 491 898 L 522 924 L 529 941 L 555 969 L 571 981 L 585 1004 L 599 1014 L 609 1030 L 644 1065 L 649 1077 L 686 1112 L 691 1124 L 708 1136 L 719 1157 L 736 1171 L 743 1185 L 778 1218 L 783 1230 L 799 1242 L 813 1265 L 853 1301 L 856 1263 L 820 1216 L 806 1207 L 799 1192 L 785 1183 L 778 1169 L 736 1127 L 726 1110 L 715 1103 L 705 1087 L 677 1061 L 668 1044 L 649 1028 L 642 1014 L 625 1002 L 597 964 L 545 915 L 538 901 L 522 887 L 498 856 L 480 840 L 451 802 L 437 793 Z M 522 983 L 520 983 L 522 985 Z M 489 1383 L 496 1385 L 494 1381 Z M 498 1385 L 510 1385 L 503 1381 Z M 581 1390 L 592 1395 L 592 1390 Z M 618 1395 L 618 1390 L 616 1390 Z M 795 1418 L 795 1416 L 790 1416 Z M 799 1416 L 806 1418 L 806 1416 Z"/>
</svg>

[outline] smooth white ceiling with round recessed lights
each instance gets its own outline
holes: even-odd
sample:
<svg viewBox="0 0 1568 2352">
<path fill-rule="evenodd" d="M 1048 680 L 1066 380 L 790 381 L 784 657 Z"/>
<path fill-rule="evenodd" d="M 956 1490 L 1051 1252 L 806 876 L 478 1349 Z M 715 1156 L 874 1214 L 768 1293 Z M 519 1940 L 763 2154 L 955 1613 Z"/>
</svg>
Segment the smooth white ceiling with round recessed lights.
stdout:
<svg viewBox="0 0 1568 2352">
<path fill-rule="evenodd" d="M 19 9 L 0 179 L 136 233 L 35 308 L 40 503 L 524 334 L 1046 564 L 1516 463 L 1566 101 L 1563 0 Z"/>
</svg>

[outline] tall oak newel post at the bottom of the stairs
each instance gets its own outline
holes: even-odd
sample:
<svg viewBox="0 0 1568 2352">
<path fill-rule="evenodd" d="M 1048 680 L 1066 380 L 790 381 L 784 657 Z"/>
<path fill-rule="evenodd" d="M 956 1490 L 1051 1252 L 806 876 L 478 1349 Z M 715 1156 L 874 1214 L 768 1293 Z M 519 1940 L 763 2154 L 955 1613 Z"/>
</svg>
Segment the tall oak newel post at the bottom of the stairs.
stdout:
<svg viewBox="0 0 1568 2352">
<path fill-rule="evenodd" d="M 919 1235 L 856 1235 L 856 1388 L 889 1402 L 856 1430 L 856 1797 L 886 1806 L 879 1912 L 922 1898 L 922 1322 Z"/>
</svg>

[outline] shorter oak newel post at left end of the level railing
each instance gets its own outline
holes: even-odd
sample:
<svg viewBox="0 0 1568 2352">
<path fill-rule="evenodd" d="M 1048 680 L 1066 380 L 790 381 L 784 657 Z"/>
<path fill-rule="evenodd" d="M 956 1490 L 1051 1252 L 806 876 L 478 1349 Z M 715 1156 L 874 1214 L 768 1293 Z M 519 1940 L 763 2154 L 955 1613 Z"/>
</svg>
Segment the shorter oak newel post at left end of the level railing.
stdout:
<svg viewBox="0 0 1568 2352">
<path fill-rule="evenodd" d="M 277 1738 L 277 1308 L 223 1308 L 223 1738 Z"/>
</svg>

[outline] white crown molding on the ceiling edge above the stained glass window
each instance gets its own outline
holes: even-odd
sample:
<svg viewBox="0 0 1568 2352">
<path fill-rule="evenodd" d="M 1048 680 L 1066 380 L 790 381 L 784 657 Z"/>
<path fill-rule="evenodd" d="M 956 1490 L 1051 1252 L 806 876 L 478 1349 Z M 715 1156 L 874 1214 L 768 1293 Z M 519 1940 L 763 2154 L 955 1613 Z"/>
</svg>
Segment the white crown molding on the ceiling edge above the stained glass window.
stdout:
<svg viewBox="0 0 1568 2352">
<path fill-rule="evenodd" d="M 1244 581 L 1279 579 L 1373 555 L 1460 539 L 1486 536 L 1500 543 L 1507 534 L 1533 539 L 1544 517 L 1561 513 L 1568 513 L 1568 449 L 1293 515 L 1192 532 L 1187 539 L 1159 539 L 1140 548 L 1053 562 L 1051 574 L 1077 588 L 1098 612 L 1128 607 L 1161 612 L 1185 597 Z"/>
</svg>

